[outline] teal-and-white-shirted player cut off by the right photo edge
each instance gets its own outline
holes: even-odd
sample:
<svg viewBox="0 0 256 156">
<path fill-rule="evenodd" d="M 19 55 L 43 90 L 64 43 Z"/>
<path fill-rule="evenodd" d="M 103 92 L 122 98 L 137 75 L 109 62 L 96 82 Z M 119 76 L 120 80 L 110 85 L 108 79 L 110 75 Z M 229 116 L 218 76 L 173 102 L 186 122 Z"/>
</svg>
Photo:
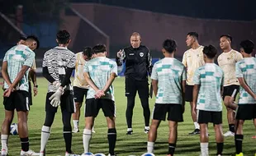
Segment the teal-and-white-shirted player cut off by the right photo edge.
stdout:
<svg viewBox="0 0 256 156">
<path fill-rule="evenodd" d="M 239 102 L 236 111 L 235 150 L 236 156 L 243 156 L 243 126 L 245 120 L 254 120 L 256 126 L 256 58 L 252 56 L 254 43 L 244 40 L 240 53 L 244 59 L 235 63 L 235 75 L 239 80 Z"/>
</svg>

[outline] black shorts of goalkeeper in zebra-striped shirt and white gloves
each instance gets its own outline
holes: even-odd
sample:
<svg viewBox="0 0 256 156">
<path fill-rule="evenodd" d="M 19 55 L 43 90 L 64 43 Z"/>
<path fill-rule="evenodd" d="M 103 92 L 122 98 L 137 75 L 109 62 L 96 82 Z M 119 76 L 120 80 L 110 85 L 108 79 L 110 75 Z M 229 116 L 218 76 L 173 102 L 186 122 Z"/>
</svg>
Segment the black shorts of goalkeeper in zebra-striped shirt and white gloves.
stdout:
<svg viewBox="0 0 256 156">
<path fill-rule="evenodd" d="M 46 94 L 46 100 L 45 100 L 45 112 L 57 112 L 58 107 L 55 108 L 50 104 L 50 96 L 54 94 L 54 92 L 50 92 Z M 67 110 L 68 112 L 75 112 L 75 105 L 73 101 L 73 91 L 65 91 L 63 95 L 61 95 L 60 98 L 60 108 L 61 111 Z"/>
</svg>

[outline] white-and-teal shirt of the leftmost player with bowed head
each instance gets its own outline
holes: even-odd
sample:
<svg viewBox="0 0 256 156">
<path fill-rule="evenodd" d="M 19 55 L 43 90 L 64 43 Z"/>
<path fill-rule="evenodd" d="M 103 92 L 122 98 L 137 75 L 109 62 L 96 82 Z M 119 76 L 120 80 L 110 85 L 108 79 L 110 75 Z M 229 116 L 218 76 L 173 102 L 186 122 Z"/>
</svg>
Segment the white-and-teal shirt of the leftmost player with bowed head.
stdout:
<svg viewBox="0 0 256 156">
<path fill-rule="evenodd" d="M 21 71 L 21 67 L 31 67 L 34 59 L 35 53 L 26 45 L 19 44 L 10 48 L 5 54 L 3 61 L 7 61 L 7 72 L 11 82 L 15 80 L 17 74 Z M 4 84 L 4 88 L 8 88 L 6 83 Z M 21 78 L 17 89 L 28 91 L 28 71 L 26 71 L 25 75 Z"/>
</svg>

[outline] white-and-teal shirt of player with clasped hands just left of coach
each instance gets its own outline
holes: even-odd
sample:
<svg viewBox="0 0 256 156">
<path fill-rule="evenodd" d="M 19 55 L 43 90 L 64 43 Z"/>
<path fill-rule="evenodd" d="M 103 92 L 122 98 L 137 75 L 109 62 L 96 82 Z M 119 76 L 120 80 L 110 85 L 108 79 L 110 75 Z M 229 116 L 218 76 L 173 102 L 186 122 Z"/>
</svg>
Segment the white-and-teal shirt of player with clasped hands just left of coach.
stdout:
<svg viewBox="0 0 256 156">
<path fill-rule="evenodd" d="M 98 89 L 103 89 L 111 73 L 116 73 L 117 75 L 117 65 L 116 62 L 107 57 L 95 57 L 85 64 L 84 71 L 89 73 L 89 76 Z M 94 98 L 94 95 L 95 91 L 89 88 L 87 99 Z M 112 85 L 102 99 L 114 100 L 114 88 Z"/>
</svg>

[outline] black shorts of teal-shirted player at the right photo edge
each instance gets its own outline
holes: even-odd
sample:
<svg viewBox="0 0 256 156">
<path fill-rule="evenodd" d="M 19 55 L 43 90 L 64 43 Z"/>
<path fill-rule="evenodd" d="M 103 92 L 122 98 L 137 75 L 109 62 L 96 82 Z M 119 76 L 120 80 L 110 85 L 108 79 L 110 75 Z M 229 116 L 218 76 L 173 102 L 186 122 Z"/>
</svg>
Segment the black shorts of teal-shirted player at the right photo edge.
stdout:
<svg viewBox="0 0 256 156">
<path fill-rule="evenodd" d="M 251 120 L 256 118 L 256 104 L 239 104 L 235 119 Z"/>
</svg>

